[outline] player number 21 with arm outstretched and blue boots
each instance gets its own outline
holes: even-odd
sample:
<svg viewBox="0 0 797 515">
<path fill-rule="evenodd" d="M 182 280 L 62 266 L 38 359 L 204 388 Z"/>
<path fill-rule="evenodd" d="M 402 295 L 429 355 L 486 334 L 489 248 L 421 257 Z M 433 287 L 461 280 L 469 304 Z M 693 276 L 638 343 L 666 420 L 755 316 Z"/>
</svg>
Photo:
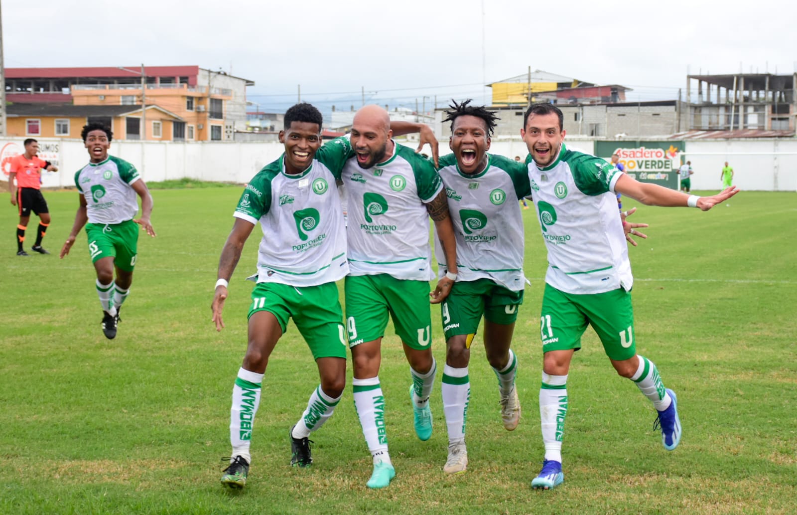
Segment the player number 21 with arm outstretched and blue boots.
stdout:
<svg viewBox="0 0 797 515">
<path fill-rule="evenodd" d="M 569 151 L 563 143 L 563 115 L 552 104 L 532 104 L 520 130 L 532 163 L 528 167 L 540 229 L 548 247 L 548 272 L 540 316 L 543 374 L 540 423 L 545 458 L 532 487 L 552 489 L 563 482 L 562 437 L 567 415 L 567 372 L 581 347 L 587 324 L 595 329 L 618 375 L 631 379 L 654 404 L 662 443 L 673 450 L 681 440 L 675 392 L 666 388 L 656 365 L 638 356 L 630 290 L 634 278 L 622 241 L 614 194 L 645 205 L 709 210 L 736 195 L 685 195 L 639 183 L 603 159 Z"/>
</svg>

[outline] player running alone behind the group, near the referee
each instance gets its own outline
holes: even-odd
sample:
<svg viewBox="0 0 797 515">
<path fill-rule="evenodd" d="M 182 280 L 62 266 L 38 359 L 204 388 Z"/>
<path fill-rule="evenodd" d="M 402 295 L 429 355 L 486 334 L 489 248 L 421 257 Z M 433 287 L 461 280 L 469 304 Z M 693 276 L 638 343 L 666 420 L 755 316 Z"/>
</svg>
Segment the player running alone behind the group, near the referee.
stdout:
<svg viewBox="0 0 797 515">
<path fill-rule="evenodd" d="M 80 137 L 88 150 L 88 164 L 75 174 L 80 206 L 69 237 L 61 248 L 61 258 L 69 254 L 80 229 L 86 226 L 88 252 L 96 270 L 96 291 L 103 310 L 102 332 L 112 340 L 121 320 L 120 308 L 133 282 L 138 226 L 155 238 L 150 222 L 152 196 L 131 163 L 108 155 L 113 137 L 110 128 L 92 122 L 84 125 Z M 141 198 L 141 218 L 138 219 L 133 218 L 139 210 L 135 195 Z"/>
</svg>

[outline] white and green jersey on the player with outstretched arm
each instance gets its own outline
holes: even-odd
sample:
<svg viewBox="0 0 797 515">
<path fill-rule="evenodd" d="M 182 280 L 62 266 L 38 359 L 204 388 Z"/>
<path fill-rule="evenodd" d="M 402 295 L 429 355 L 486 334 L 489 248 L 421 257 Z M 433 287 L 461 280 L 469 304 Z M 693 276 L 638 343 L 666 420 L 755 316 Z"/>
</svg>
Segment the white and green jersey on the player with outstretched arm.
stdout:
<svg viewBox="0 0 797 515">
<path fill-rule="evenodd" d="M 537 167 L 527 158 L 532 199 L 545 245 L 545 282 L 566 293 L 629 291 L 634 283 L 617 213 L 614 183 L 622 172 L 593 155 L 569 151 Z"/>
</svg>

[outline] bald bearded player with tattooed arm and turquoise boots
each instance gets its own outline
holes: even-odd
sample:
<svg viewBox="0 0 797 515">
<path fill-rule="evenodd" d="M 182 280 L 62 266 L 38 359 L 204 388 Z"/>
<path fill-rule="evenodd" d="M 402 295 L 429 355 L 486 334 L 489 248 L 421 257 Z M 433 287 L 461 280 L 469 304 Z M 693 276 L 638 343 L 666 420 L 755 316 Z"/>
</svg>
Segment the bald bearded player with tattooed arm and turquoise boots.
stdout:
<svg viewBox="0 0 797 515">
<path fill-rule="evenodd" d="M 395 143 L 387 112 L 367 105 L 355 114 L 344 167 L 348 197 L 346 324 L 354 366 L 354 401 L 373 457 L 369 488 L 395 477 L 384 428 L 385 399 L 379 385 L 381 343 L 392 316 L 410 364 L 410 398 L 418 438 L 432 434 L 429 396 L 437 366 L 431 352 L 429 281 L 433 277 L 429 217 L 450 267 L 431 302 L 443 301 L 457 278 L 453 226 L 446 192 L 434 166 Z M 434 154 L 434 147 L 433 147 Z"/>
</svg>

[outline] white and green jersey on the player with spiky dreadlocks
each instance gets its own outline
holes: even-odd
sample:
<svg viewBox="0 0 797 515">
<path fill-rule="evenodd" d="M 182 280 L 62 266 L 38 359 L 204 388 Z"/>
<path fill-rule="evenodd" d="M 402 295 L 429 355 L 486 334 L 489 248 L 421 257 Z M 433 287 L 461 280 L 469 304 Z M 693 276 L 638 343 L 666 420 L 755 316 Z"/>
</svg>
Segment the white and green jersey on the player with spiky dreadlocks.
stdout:
<svg viewBox="0 0 797 515">
<path fill-rule="evenodd" d="M 457 282 L 487 278 L 512 291 L 524 289 L 522 199 L 531 193 L 525 163 L 487 155 L 484 171 L 463 174 L 453 154 L 440 158 L 457 239 Z M 438 276 L 445 275 L 446 254 L 434 238 Z"/>
</svg>

